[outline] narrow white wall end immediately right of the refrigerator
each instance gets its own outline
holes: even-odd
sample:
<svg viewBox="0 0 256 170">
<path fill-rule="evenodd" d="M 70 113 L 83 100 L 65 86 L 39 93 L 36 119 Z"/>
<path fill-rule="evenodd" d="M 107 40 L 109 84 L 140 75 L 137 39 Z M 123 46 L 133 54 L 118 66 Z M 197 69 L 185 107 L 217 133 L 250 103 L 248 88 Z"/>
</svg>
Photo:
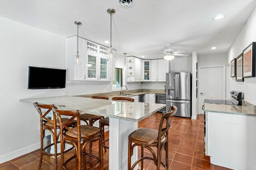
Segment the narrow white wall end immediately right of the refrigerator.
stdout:
<svg viewBox="0 0 256 170">
<path fill-rule="evenodd" d="M 198 56 L 196 52 L 192 53 L 192 119 L 198 115 L 198 98 L 196 98 L 196 63 Z"/>
</svg>

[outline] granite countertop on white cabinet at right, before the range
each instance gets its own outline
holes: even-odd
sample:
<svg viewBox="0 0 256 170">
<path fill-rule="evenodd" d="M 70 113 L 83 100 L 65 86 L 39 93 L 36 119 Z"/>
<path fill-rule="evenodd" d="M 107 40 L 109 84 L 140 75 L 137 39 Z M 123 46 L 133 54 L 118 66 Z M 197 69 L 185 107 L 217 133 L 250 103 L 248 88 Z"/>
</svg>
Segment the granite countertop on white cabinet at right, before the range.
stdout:
<svg viewBox="0 0 256 170">
<path fill-rule="evenodd" d="M 204 105 L 204 111 L 233 115 L 256 116 L 255 106 L 218 105 L 206 103 Z"/>
</svg>

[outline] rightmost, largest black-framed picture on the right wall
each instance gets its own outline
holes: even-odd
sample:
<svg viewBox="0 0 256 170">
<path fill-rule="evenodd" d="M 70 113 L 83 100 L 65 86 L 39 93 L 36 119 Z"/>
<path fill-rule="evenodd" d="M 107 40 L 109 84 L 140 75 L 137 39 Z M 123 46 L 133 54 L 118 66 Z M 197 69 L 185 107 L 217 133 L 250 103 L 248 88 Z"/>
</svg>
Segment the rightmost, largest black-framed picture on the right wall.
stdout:
<svg viewBox="0 0 256 170">
<path fill-rule="evenodd" d="M 255 47 L 253 42 L 243 51 L 243 77 L 255 77 Z"/>
</svg>

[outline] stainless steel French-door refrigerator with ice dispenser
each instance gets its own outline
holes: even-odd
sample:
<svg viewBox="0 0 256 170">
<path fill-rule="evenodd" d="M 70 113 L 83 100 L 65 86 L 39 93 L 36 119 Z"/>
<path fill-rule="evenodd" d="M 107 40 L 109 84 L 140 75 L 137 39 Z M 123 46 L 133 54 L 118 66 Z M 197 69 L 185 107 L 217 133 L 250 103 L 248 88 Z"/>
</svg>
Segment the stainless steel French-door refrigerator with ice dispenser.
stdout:
<svg viewBox="0 0 256 170">
<path fill-rule="evenodd" d="M 190 72 L 166 73 L 166 112 L 177 107 L 175 116 L 191 118 L 192 74 Z"/>
</svg>

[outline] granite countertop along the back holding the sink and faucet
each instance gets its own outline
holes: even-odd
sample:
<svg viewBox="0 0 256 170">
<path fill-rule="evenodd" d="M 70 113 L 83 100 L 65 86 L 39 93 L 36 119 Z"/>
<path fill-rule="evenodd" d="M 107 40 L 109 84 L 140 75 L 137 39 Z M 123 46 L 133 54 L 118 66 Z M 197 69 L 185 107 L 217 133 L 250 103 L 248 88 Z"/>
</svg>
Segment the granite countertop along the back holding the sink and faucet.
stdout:
<svg viewBox="0 0 256 170">
<path fill-rule="evenodd" d="M 123 95 L 120 95 L 120 91 L 114 91 L 109 93 L 77 95 L 76 97 L 92 97 L 93 95 L 96 95 L 96 96 L 107 96 L 109 99 L 112 99 L 112 97 L 133 97 L 133 96 L 145 95 L 149 93 L 165 95 L 164 90 L 154 90 L 154 89 L 125 90 L 123 92 L 124 92 Z M 126 94 L 130 94 L 130 95 L 126 95 Z"/>
</svg>

